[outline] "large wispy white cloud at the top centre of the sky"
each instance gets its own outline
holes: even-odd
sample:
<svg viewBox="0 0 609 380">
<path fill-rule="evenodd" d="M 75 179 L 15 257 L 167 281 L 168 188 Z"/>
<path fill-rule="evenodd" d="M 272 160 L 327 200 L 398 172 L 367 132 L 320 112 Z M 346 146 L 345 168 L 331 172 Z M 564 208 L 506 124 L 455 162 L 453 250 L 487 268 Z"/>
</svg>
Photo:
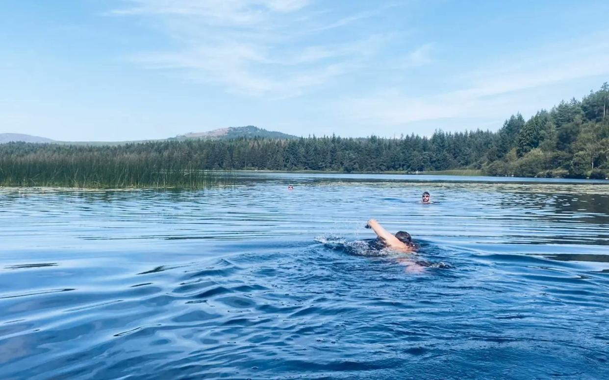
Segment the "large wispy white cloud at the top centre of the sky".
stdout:
<svg viewBox="0 0 609 380">
<path fill-rule="evenodd" d="M 146 67 L 178 72 L 188 80 L 215 83 L 227 92 L 292 97 L 362 67 L 388 37 L 346 35 L 321 43 L 313 34 L 374 16 L 367 10 L 325 22 L 309 0 L 126 0 L 114 15 L 162 21 L 176 48 L 137 52 Z M 326 15 L 327 16 L 327 15 Z M 424 61 L 425 52 L 412 61 Z"/>
</svg>

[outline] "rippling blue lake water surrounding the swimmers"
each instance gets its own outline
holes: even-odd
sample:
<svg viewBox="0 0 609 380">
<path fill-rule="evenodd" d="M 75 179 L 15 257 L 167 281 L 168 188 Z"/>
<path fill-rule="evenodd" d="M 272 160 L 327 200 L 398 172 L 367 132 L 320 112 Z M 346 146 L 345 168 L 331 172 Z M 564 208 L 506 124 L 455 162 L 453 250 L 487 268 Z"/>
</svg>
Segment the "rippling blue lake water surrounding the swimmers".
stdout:
<svg viewBox="0 0 609 380">
<path fill-rule="evenodd" d="M 0 188 L 0 378 L 609 378 L 609 184 L 491 181 Z"/>
</svg>

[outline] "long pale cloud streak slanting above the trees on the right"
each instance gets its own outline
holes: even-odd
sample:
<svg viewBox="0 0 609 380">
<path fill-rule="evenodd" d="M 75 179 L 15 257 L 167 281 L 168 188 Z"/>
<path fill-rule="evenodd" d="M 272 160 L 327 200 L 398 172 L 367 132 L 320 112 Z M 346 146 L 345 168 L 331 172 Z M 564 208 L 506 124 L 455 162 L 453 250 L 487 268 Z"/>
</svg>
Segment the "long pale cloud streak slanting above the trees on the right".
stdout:
<svg viewBox="0 0 609 380">
<path fill-rule="evenodd" d="M 552 103 L 544 105 L 545 99 L 533 95 L 544 87 L 609 75 L 607 41 L 588 36 L 585 40 L 560 41 L 535 51 L 512 52 L 509 58 L 500 57 L 495 64 L 486 63 L 459 73 L 453 79 L 457 85 L 449 91 L 433 91 L 429 95 L 389 86 L 374 94 L 345 97 L 337 108 L 350 122 L 387 127 L 452 118 L 501 120 L 509 116 L 507 112 L 522 111 L 527 103 L 533 110 L 551 106 Z M 406 59 L 406 66 L 428 63 L 428 49 L 431 47 L 415 50 Z M 558 102 L 560 98 L 551 101 Z"/>
</svg>

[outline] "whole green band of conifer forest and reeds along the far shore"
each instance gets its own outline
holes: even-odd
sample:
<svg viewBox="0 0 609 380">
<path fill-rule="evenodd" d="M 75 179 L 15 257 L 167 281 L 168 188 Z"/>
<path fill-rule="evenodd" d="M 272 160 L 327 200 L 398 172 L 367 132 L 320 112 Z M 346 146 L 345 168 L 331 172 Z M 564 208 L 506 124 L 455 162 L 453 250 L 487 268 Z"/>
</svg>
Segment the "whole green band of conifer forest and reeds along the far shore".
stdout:
<svg viewBox="0 0 609 380">
<path fill-rule="evenodd" d="M 606 178 L 609 85 L 541 110 L 511 116 L 497 132 L 436 131 L 399 139 L 186 140 L 82 146 L 0 145 L 0 184 L 85 187 L 198 186 L 207 170 L 351 172 L 482 170 L 491 176 Z"/>
</svg>

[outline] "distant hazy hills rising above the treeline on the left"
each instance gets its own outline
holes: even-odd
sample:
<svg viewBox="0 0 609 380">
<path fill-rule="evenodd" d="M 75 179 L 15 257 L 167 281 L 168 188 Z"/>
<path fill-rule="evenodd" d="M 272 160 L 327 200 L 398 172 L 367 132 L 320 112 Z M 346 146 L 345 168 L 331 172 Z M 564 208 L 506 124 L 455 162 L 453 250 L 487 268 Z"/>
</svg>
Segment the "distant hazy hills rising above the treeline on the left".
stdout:
<svg viewBox="0 0 609 380">
<path fill-rule="evenodd" d="M 197 133 L 178 134 L 175 137 L 160 140 L 137 140 L 137 141 L 57 141 L 47 139 L 46 137 L 31 136 L 23 133 L 0 133 L 0 143 L 7 142 L 34 142 L 34 143 L 58 143 L 58 144 L 74 144 L 74 145 L 119 145 L 122 143 L 138 143 L 149 141 L 163 140 L 230 140 L 239 138 L 262 137 L 267 139 L 298 139 L 298 136 L 292 134 L 281 133 L 277 131 L 267 131 L 264 128 L 257 126 L 231 126 L 229 128 L 219 128 L 217 130 Z"/>
</svg>

